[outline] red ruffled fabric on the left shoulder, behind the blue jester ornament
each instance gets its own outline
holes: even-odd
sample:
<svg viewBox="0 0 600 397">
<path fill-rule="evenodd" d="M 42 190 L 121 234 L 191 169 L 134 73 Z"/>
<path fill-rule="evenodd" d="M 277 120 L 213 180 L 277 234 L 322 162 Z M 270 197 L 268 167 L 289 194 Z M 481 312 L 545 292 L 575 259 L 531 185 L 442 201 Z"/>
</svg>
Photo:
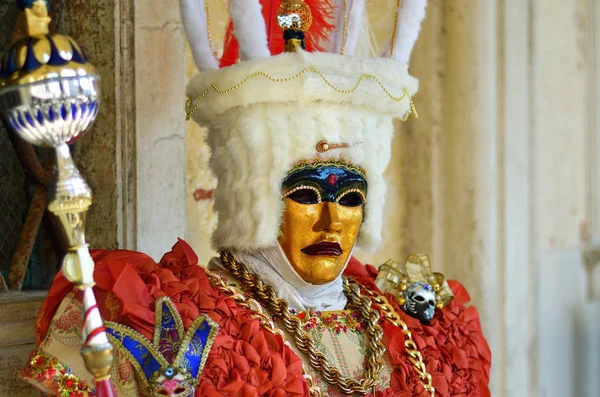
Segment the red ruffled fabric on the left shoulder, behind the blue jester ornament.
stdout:
<svg viewBox="0 0 600 397">
<path fill-rule="evenodd" d="M 125 324 L 152 340 L 154 302 L 169 296 L 186 328 L 200 313 L 219 324 L 196 396 L 308 395 L 302 360 L 281 336 L 262 329 L 247 310 L 212 288 L 198 266 L 198 257 L 183 240 L 158 264 L 145 254 L 123 250 L 94 251 L 92 257 L 96 262 L 94 292 L 104 319 Z M 59 273 L 38 316 L 38 341 L 72 288 Z M 115 297 L 117 305 L 110 303 Z"/>
</svg>

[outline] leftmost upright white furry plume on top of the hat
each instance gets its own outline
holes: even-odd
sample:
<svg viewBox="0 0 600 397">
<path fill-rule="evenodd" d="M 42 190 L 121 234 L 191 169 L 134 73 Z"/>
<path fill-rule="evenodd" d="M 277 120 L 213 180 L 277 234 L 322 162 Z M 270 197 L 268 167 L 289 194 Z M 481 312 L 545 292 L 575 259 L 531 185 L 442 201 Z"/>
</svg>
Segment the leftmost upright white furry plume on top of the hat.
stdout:
<svg viewBox="0 0 600 397">
<path fill-rule="evenodd" d="M 200 71 L 219 69 L 206 30 L 205 0 L 180 0 L 179 10 L 194 62 Z"/>
</svg>

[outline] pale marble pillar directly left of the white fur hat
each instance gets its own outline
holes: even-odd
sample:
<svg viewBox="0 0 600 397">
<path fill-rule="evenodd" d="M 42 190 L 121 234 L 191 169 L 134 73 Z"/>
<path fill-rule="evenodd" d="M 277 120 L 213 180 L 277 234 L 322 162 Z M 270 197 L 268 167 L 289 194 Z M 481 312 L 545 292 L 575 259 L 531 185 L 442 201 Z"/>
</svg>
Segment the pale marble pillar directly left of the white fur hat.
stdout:
<svg viewBox="0 0 600 397">
<path fill-rule="evenodd" d="M 124 245 L 158 260 L 186 232 L 184 35 L 178 0 L 133 5 L 135 215 Z"/>
</svg>

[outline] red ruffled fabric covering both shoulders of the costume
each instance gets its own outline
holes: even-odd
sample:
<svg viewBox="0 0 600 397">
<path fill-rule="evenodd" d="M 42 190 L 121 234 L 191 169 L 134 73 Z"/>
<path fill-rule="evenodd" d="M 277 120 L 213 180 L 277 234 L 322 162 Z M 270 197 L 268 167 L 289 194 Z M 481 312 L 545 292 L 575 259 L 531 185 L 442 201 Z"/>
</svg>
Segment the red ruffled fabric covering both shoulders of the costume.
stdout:
<svg viewBox="0 0 600 397">
<path fill-rule="evenodd" d="M 302 361 L 280 336 L 264 330 L 248 311 L 221 295 L 209 283 L 198 258 L 183 240 L 157 264 L 132 251 L 94 251 L 94 291 L 104 319 L 120 322 L 151 339 L 154 302 L 169 296 L 187 328 L 200 314 L 216 321 L 219 332 L 200 377 L 196 396 L 307 396 Z M 377 270 L 354 258 L 345 274 L 377 290 Z M 488 397 L 490 349 L 483 337 L 477 311 L 465 307 L 470 298 L 450 281 L 455 299 L 438 310 L 431 325 L 423 326 L 396 310 L 410 328 L 433 377 L 436 396 Z M 73 289 L 59 273 L 40 309 L 36 324 L 38 343 L 48 331 L 61 300 Z M 391 296 L 390 302 L 395 304 Z M 385 343 L 394 365 L 391 387 L 377 396 L 426 397 L 404 351 L 402 331 L 384 324 Z"/>
</svg>

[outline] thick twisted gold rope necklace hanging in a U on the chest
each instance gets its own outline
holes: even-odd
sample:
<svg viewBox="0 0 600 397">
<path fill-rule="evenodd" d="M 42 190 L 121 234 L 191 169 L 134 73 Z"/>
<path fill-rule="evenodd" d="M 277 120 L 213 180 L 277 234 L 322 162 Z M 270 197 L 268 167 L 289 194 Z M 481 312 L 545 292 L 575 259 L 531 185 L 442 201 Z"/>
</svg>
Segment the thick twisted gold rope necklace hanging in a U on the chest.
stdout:
<svg viewBox="0 0 600 397">
<path fill-rule="evenodd" d="M 336 385 L 346 394 L 364 395 L 374 390 L 379 383 L 379 375 L 383 369 L 383 354 L 385 353 L 385 346 L 381 341 L 383 329 L 379 325 L 379 312 L 371 308 L 371 299 L 360 293 L 360 287 L 357 284 L 351 284 L 347 278 L 344 278 L 346 296 L 352 306 L 360 310 L 363 319 L 367 320 L 366 332 L 369 336 L 370 355 L 367 360 L 365 377 L 358 381 L 343 376 L 338 368 L 329 363 L 325 354 L 315 347 L 310 333 L 303 330 L 300 318 L 290 312 L 285 299 L 276 296 L 273 287 L 264 284 L 258 275 L 251 274 L 246 266 L 236 261 L 231 253 L 221 253 L 221 263 L 240 281 L 241 286 L 247 292 L 258 298 L 270 312 L 283 321 L 285 329 L 294 337 L 298 349 L 309 356 L 311 366 L 319 371 L 327 382 Z"/>
</svg>

